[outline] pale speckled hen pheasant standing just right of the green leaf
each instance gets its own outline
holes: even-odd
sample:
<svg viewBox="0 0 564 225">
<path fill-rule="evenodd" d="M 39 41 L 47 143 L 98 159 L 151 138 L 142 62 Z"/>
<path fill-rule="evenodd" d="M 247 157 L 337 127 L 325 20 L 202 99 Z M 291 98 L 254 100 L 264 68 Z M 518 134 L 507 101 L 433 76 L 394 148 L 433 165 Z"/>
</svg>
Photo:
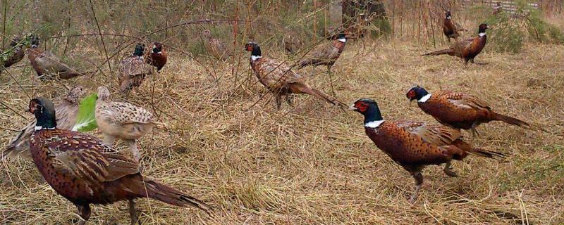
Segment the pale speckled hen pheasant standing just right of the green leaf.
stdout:
<svg viewBox="0 0 564 225">
<path fill-rule="evenodd" d="M 157 122 L 153 121 L 153 115 L 145 108 L 114 102 L 109 97 L 108 88 L 99 86 L 95 116 L 98 129 L 104 134 L 104 143 L 112 146 L 115 139 L 123 139 L 139 162 L 141 154 L 137 149 L 137 139 L 149 133 Z"/>
</svg>

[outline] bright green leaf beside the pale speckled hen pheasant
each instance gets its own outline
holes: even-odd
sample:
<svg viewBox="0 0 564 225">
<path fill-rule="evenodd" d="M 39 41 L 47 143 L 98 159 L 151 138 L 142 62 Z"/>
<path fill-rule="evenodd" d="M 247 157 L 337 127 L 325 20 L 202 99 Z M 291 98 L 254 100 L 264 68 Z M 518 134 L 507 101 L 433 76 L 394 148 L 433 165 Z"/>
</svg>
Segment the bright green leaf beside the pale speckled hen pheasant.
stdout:
<svg viewBox="0 0 564 225">
<path fill-rule="evenodd" d="M 98 127 L 95 116 L 97 98 L 97 94 L 94 93 L 80 101 L 73 131 L 92 131 Z"/>
</svg>

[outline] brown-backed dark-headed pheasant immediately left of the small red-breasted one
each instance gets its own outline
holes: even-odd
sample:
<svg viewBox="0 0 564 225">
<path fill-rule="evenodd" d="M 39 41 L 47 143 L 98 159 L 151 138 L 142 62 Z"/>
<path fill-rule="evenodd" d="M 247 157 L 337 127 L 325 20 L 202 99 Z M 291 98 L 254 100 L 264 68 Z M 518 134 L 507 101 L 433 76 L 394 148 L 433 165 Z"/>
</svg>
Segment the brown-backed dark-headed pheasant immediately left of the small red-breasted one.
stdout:
<svg viewBox="0 0 564 225">
<path fill-rule="evenodd" d="M 119 63 L 118 81 L 121 92 L 125 96 L 128 96 L 129 91 L 134 87 L 141 86 L 147 75 L 152 74 L 153 70 L 143 60 L 143 51 L 145 51 L 145 44 L 137 44 L 133 54 L 123 58 Z"/>
</svg>

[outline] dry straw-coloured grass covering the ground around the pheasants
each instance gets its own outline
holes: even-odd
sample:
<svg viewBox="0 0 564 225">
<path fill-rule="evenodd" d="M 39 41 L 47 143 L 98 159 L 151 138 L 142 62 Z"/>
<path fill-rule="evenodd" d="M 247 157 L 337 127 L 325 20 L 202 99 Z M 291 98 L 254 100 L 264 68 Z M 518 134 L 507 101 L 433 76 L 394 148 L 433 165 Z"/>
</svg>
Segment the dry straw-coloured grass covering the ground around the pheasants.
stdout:
<svg viewBox="0 0 564 225">
<path fill-rule="evenodd" d="M 263 46 L 269 56 L 281 56 Z M 465 91 L 495 110 L 546 127 L 526 131 L 492 122 L 479 129 L 477 146 L 510 153 L 505 161 L 469 157 L 453 165 L 459 177 L 428 167 L 419 200 L 407 203 L 414 181 L 364 135 L 361 116 L 301 96 L 295 108 L 277 111 L 247 64 L 218 63 L 207 69 L 173 53 L 133 101 L 158 115 L 168 130 L 142 139 L 144 174 L 215 207 L 214 217 L 156 200 L 137 200 L 145 224 L 562 224 L 563 169 L 542 169 L 564 159 L 564 47 L 526 46 L 522 53 L 483 53 L 469 65 L 408 42 L 351 42 L 333 67 L 338 98 L 379 102 L 386 120 L 434 122 L 405 91 Z M 206 59 L 202 59 L 206 60 Z M 216 63 L 209 60 L 208 63 Z M 20 65 L 27 65 L 27 60 Z M 10 70 L 31 96 L 59 98 L 65 90 L 31 86 L 29 68 Z M 303 73 L 312 70 L 307 68 Z M 322 68 L 317 68 L 322 73 Z M 221 77 L 216 82 L 214 77 Z M 233 81 L 238 79 L 236 84 Z M 315 77 L 329 89 L 329 78 Z M 76 79 L 94 91 L 107 78 Z M 117 83 L 112 78 L 111 89 Z M 1 101 L 23 114 L 1 110 L 0 127 L 19 129 L 31 115 L 29 99 L 2 74 Z M 59 87 L 57 87 L 59 86 Z M 115 100 L 121 100 L 118 94 Z M 256 103 L 258 101 L 258 103 Z M 152 104 L 154 103 L 154 104 Z M 256 103 L 256 105 L 253 105 Z M 156 111 L 155 111 L 156 110 Z M 95 135 L 100 136 L 98 132 Z M 0 146 L 16 133 L 2 131 Z M 120 144 L 120 146 L 123 146 Z M 126 152 L 130 154 L 129 152 Z M 42 181 L 31 162 L 0 162 L 0 224 L 76 223 L 76 209 Z M 128 224 L 125 203 L 94 206 L 89 224 Z"/>
</svg>

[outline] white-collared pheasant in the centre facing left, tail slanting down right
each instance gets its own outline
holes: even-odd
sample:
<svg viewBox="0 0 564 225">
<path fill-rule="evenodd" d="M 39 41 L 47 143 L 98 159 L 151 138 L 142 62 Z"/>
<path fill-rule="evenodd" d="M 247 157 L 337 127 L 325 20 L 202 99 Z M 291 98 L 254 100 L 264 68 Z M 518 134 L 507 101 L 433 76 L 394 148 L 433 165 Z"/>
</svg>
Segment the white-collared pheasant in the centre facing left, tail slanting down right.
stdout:
<svg viewBox="0 0 564 225">
<path fill-rule="evenodd" d="M 280 109 L 282 96 L 286 97 L 286 103 L 293 105 L 291 94 L 309 94 L 333 105 L 343 105 L 322 91 L 313 89 L 306 84 L 300 75 L 291 70 L 287 65 L 278 63 L 276 60 L 263 57 L 260 47 L 254 42 L 245 44 L 245 50 L 251 52 L 250 65 L 259 81 L 274 94 L 276 107 Z"/>
</svg>

